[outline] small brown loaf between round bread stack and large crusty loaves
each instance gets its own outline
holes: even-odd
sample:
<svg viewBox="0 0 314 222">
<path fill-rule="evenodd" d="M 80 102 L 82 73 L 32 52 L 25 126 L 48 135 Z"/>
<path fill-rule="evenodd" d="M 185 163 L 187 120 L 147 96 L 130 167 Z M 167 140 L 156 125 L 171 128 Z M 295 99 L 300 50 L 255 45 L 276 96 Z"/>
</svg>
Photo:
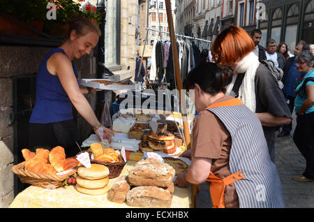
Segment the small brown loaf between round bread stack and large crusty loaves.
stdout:
<svg viewBox="0 0 314 222">
<path fill-rule="evenodd" d="M 126 201 L 128 191 L 130 191 L 130 184 L 128 184 L 128 177 L 124 175 L 114 182 L 112 188 L 108 192 L 107 198 L 112 202 L 123 203 Z"/>
</svg>

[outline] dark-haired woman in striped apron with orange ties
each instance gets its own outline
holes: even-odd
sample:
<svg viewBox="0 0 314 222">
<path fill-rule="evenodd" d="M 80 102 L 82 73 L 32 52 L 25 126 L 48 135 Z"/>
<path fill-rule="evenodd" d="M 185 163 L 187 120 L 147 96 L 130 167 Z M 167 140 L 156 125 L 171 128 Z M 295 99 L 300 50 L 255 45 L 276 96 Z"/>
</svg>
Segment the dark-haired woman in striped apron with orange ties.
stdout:
<svg viewBox="0 0 314 222">
<path fill-rule="evenodd" d="M 262 125 L 238 98 L 225 96 L 230 80 L 231 73 L 212 63 L 188 74 L 187 89 L 194 89 L 200 114 L 193 126 L 193 148 L 187 151 L 192 163 L 175 184 L 211 182 L 213 207 L 284 207 Z"/>
</svg>

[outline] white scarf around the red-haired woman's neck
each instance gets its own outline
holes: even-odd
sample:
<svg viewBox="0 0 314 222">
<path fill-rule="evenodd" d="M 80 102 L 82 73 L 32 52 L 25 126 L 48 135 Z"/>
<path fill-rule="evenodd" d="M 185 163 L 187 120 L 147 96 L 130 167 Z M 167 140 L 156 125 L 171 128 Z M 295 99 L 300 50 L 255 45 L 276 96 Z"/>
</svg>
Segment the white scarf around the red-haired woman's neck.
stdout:
<svg viewBox="0 0 314 222">
<path fill-rule="evenodd" d="M 257 67 L 260 65 L 258 57 L 250 52 L 246 57 L 244 57 L 236 68 L 234 68 L 234 75 L 232 77 L 232 82 L 227 85 L 227 95 L 230 95 L 232 88 L 234 86 L 235 80 L 239 73 L 244 73 L 243 82 L 239 89 L 239 99 L 244 103 L 252 112 L 256 110 L 256 99 L 255 99 L 255 73 Z"/>
</svg>

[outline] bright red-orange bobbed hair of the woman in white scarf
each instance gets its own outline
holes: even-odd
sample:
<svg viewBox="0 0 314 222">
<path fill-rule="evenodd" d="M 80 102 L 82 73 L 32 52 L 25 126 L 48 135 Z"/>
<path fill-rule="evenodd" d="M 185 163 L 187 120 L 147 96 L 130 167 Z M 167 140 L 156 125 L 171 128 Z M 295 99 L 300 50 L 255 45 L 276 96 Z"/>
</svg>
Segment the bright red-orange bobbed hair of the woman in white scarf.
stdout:
<svg viewBox="0 0 314 222">
<path fill-rule="evenodd" d="M 240 27 L 230 26 L 214 40 L 211 53 L 221 66 L 234 64 L 252 52 L 255 44 L 248 33 Z"/>
</svg>

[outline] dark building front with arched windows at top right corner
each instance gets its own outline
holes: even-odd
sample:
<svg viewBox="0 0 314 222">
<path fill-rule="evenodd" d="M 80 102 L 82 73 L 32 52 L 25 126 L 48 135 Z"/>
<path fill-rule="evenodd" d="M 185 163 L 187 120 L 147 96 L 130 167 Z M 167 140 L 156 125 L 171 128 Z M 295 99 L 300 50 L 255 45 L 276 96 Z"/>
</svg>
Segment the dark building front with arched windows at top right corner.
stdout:
<svg viewBox="0 0 314 222">
<path fill-rule="evenodd" d="M 314 0 L 261 1 L 265 19 L 258 27 L 262 30 L 262 44 L 273 38 L 276 43 L 287 43 L 294 50 L 299 40 L 314 43 Z"/>
</svg>

